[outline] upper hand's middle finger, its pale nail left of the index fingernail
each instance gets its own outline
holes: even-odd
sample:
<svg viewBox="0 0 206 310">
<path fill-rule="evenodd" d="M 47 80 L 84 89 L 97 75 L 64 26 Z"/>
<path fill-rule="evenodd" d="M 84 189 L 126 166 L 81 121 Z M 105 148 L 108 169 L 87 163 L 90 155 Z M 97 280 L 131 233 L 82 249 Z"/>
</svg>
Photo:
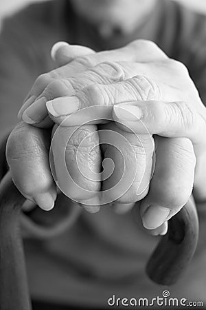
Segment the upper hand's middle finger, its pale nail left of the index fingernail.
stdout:
<svg viewBox="0 0 206 310">
<path fill-rule="evenodd" d="M 78 125 L 82 121 L 89 121 L 91 110 L 94 118 L 112 118 L 113 105 L 130 101 L 160 100 L 163 96 L 165 100 L 178 98 L 170 86 L 160 82 L 157 85 L 146 76 L 135 76 L 109 85 L 89 85 L 76 92 L 75 96 L 47 102 L 47 110 L 55 123 L 64 121 L 65 126 Z"/>
</svg>

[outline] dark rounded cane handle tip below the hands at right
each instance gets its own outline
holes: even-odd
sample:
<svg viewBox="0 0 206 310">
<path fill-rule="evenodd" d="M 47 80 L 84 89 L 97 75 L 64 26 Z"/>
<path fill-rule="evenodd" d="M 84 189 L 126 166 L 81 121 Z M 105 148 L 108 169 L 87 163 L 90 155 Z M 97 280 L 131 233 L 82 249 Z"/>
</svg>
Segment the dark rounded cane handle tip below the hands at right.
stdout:
<svg viewBox="0 0 206 310">
<path fill-rule="evenodd" d="M 168 224 L 168 234 L 161 238 L 146 267 L 150 279 L 161 285 L 172 285 L 181 277 L 196 249 L 198 216 L 192 196 Z"/>
</svg>

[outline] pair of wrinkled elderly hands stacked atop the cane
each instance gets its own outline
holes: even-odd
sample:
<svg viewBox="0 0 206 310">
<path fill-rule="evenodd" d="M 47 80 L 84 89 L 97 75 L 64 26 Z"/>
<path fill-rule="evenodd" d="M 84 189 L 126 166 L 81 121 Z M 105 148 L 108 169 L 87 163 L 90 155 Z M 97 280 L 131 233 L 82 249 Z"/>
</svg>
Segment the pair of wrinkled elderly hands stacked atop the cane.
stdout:
<svg viewBox="0 0 206 310">
<path fill-rule="evenodd" d="M 165 232 L 166 221 L 185 205 L 193 185 L 198 197 L 205 198 L 203 184 L 206 174 L 203 170 L 206 114 L 196 87 L 185 66 L 168 59 L 150 41 L 137 40 L 126 48 L 96 54 L 87 48 L 78 47 L 80 54 L 74 56 L 74 49 L 65 45 L 59 50 L 59 54 L 56 53 L 57 62 L 62 67 L 43 74 L 36 80 L 21 109 L 20 117 L 32 125 L 17 125 L 8 140 L 7 158 L 14 183 L 27 198 L 32 198 L 44 209 L 49 209 L 44 202 L 46 198 L 42 196 L 49 192 L 55 197 L 56 191 L 49 167 L 47 147 L 51 132 L 47 128 L 54 123 L 61 124 L 58 139 L 55 141 L 54 134 L 52 146 L 58 185 L 69 197 L 80 199 L 82 204 L 89 204 L 89 200 L 91 205 L 93 200 L 98 204 L 95 196 L 100 190 L 100 182 L 84 178 L 82 174 L 78 174 L 76 165 L 73 165 L 76 146 L 86 137 L 88 143 L 79 149 L 78 155 L 82 169 L 84 171 L 84 167 L 87 168 L 87 155 L 90 154 L 92 169 L 100 172 L 100 148 L 96 147 L 91 154 L 93 145 L 98 145 L 102 139 L 101 134 L 95 134 L 98 125 L 119 132 L 133 145 L 132 152 L 127 152 L 126 148 L 122 151 L 129 174 L 133 174 L 131 162 L 134 154 L 137 158 L 137 174 L 130 189 L 117 200 L 115 198 L 118 193 L 111 191 L 109 199 L 127 206 L 141 200 L 144 226 L 151 230 L 161 227 L 159 232 Z M 70 118 L 67 123 L 67 116 L 74 109 L 74 94 L 80 102 L 80 110 L 97 104 L 104 105 L 108 108 L 106 116 L 109 114 L 116 123 L 101 124 L 102 121 L 97 121 L 82 125 L 84 110 Z M 65 101 L 62 101 L 62 97 L 65 97 Z M 51 110 L 51 104 L 45 105 L 47 101 L 54 99 L 56 114 Z M 120 105 L 124 109 L 125 105 L 122 103 L 129 102 L 130 105 L 132 102 L 132 105 L 141 107 L 141 121 L 146 125 L 147 132 L 144 131 L 142 122 L 125 120 L 118 114 L 118 109 L 113 108 L 114 105 Z M 96 114 L 105 117 L 103 110 L 97 111 L 93 117 Z M 119 125 L 117 121 L 123 125 Z M 60 153 L 65 152 L 65 149 L 60 149 L 60 138 L 62 141 L 67 140 L 71 125 L 80 127 L 73 135 L 71 144 L 67 145 L 66 163 L 67 167 L 72 167 L 71 173 L 78 180 L 78 184 L 89 189 L 87 195 L 73 190 L 71 183 L 62 178 L 62 165 L 58 162 Z M 124 125 L 137 132 L 140 140 Z M 92 139 L 89 138 L 91 132 L 94 132 Z M 29 143 L 29 140 L 32 143 Z M 55 147 L 55 143 L 58 147 Z M 154 149 L 156 156 L 153 171 Z M 102 151 L 104 156 L 113 159 L 116 167 L 114 174 L 102 183 L 102 189 L 108 189 L 119 180 L 122 161 L 114 147 L 104 146 Z M 141 190 L 137 192 L 139 188 Z"/>
</svg>

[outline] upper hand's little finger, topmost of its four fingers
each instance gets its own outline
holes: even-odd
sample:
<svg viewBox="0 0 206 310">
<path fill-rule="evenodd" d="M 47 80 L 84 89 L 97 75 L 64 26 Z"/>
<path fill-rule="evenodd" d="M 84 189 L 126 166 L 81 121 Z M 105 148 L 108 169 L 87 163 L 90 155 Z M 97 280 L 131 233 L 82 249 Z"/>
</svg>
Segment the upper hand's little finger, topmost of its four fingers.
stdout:
<svg viewBox="0 0 206 310">
<path fill-rule="evenodd" d="M 55 52 L 56 50 L 54 48 L 52 54 L 55 55 Z M 80 52 L 80 48 L 78 48 L 78 52 Z M 103 51 L 84 56 L 81 54 L 81 56 L 76 57 L 76 59 L 67 65 L 67 77 L 72 76 L 77 72 L 82 72 L 84 70 L 88 70 L 89 68 L 93 68 L 95 65 L 105 61 L 138 61 L 149 63 L 154 61 L 163 61 L 164 59 L 168 59 L 168 56 L 166 56 L 165 53 L 161 51 L 161 49 L 155 43 L 146 40 L 136 40 L 126 45 L 124 48 L 119 48 L 117 50 Z M 36 79 L 32 90 L 25 99 L 24 107 L 22 107 L 21 111 L 19 112 L 19 118 L 21 118 L 25 108 L 29 106 L 27 101 L 30 100 L 30 97 L 34 96 L 33 99 L 35 100 L 35 97 L 37 98 L 40 96 L 40 94 L 43 92 L 45 87 L 49 85 L 49 83 L 51 83 L 54 79 L 59 79 L 59 77 L 62 76 L 62 70 L 65 70 L 65 68 L 58 68 L 57 70 L 52 70 L 47 74 L 41 74 L 41 76 Z"/>
</svg>

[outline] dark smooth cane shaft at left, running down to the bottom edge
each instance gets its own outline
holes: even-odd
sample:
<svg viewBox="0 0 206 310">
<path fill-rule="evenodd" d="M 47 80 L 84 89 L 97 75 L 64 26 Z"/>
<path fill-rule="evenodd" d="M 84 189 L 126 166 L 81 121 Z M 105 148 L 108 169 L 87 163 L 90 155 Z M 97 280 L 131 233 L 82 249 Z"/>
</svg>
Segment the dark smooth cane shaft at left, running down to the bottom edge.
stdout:
<svg viewBox="0 0 206 310">
<path fill-rule="evenodd" d="M 0 184 L 0 309 L 30 310 L 19 213 L 25 198 L 6 174 Z"/>
</svg>

